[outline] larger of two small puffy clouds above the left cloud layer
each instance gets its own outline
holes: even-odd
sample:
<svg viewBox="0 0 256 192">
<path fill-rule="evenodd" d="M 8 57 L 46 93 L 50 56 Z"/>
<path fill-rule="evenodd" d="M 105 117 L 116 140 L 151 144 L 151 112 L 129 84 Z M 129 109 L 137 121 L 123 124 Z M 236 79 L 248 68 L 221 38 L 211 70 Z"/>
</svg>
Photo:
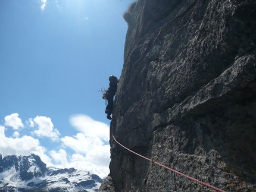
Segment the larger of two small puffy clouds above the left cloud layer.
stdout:
<svg viewBox="0 0 256 192">
<path fill-rule="evenodd" d="M 57 141 L 59 139 L 59 131 L 55 128 L 54 124 L 52 124 L 52 120 L 49 117 L 36 116 L 33 119 L 38 128 L 38 130 L 33 131 L 38 137 L 49 137 L 52 141 Z"/>
</svg>

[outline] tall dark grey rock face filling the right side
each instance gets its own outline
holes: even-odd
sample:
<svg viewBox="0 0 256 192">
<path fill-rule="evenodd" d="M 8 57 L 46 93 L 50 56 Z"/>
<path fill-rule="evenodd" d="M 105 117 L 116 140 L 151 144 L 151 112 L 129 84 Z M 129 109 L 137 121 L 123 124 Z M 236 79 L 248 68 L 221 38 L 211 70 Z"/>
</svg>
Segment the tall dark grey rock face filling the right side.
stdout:
<svg viewBox="0 0 256 192">
<path fill-rule="evenodd" d="M 138 0 L 99 191 L 256 191 L 256 1 Z"/>
</svg>

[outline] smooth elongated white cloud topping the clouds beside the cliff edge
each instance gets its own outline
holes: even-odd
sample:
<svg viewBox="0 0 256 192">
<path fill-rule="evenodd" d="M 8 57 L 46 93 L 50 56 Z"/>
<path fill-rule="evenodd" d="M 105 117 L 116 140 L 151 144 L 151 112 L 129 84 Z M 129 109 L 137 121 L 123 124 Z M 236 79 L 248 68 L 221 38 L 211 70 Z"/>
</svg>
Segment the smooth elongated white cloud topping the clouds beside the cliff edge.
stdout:
<svg viewBox="0 0 256 192">
<path fill-rule="evenodd" d="M 70 124 L 88 137 L 98 137 L 101 140 L 110 140 L 110 128 L 103 122 L 95 121 L 87 115 L 78 114 L 70 118 Z"/>
</svg>

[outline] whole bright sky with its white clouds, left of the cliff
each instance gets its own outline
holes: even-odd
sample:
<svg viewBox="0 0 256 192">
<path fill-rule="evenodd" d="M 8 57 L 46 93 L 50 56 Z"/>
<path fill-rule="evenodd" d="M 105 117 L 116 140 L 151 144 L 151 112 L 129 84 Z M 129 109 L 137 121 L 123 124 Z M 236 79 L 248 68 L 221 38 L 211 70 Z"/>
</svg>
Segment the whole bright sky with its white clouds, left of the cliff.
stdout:
<svg viewBox="0 0 256 192">
<path fill-rule="evenodd" d="M 121 75 L 130 0 L 0 1 L 0 153 L 107 176 L 98 93 Z"/>
</svg>

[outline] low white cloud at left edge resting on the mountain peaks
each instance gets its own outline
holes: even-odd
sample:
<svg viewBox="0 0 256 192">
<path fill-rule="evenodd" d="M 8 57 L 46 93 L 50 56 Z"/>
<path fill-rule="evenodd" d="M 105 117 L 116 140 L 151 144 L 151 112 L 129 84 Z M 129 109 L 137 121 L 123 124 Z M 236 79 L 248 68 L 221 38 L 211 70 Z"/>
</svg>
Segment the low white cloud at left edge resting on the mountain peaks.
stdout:
<svg viewBox="0 0 256 192">
<path fill-rule="evenodd" d="M 5 127 L 0 125 L 0 152 L 2 156 L 7 155 L 30 155 L 34 153 L 40 156 L 47 166 L 52 166 L 51 159 L 45 155 L 46 149 L 40 146 L 38 139 L 30 136 L 23 136 L 20 138 L 12 138 L 5 136 Z"/>
</svg>

